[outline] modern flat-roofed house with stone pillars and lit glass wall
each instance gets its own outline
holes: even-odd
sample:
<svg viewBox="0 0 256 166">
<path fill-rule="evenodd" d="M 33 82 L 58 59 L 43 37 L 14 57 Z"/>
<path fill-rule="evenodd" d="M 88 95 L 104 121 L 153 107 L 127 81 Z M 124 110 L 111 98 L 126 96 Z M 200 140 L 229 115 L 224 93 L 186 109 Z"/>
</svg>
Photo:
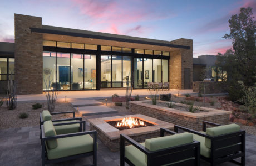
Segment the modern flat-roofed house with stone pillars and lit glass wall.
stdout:
<svg viewBox="0 0 256 166">
<path fill-rule="evenodd" d="M 61 91 L 124 88 L 131 82 L 134 89 L 146 89 L 147 82 L 191 89 L 191 39 L 164 41 L 53 27 L 42 25 L 41 17 L 21 14 L 14 14 L 14 25 L 15 43 L 0 43 L 0 85 L 14 70 L 18 94 L 41 94 L 47 79 L 51 89 Z"/>
</svg>

